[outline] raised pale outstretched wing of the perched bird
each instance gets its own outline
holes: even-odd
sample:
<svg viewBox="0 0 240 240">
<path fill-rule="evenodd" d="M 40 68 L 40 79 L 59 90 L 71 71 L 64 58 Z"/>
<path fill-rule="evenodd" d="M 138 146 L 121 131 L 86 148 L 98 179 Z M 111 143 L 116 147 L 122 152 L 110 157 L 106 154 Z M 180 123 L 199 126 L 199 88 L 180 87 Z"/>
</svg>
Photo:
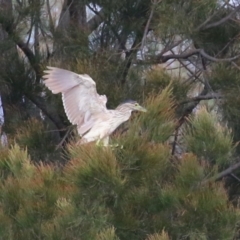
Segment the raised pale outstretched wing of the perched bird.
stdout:
<svg viewBox="0 0 240 240">
<path fill-rule="evenodd" d="M 62 93 L 65 112 L 72 124 L 78 125 L 80 135 L 94 124 L 96 115 L 107 113 L 105 95 L 98 95 L 96 83 L 87 74 L 48 67 L 44 71 L 44 84 L 52 93 Z"/>
</svg>

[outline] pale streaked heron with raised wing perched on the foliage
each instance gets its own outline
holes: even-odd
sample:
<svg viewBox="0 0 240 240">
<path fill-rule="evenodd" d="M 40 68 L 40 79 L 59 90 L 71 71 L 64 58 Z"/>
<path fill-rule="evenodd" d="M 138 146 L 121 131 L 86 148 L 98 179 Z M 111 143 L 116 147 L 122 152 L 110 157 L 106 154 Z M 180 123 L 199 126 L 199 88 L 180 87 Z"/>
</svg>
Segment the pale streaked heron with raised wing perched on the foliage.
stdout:
<svg viewBox="0 0 240 240">
<path fill-rule="evenodd" d="M 99 95 L 95 81 L 87 74 L 48 66 L 43 83 L 53 94 L 62 94 L 62 102 L 68 120 L 77 125 L 80 145 L 96 142 L 109 145 L 109 136 L 124 122 L 132 111 L 146 112 L 138 102 L 127 100 L 116 109 L 107 109 L 106 95 Z"/>
</svg>

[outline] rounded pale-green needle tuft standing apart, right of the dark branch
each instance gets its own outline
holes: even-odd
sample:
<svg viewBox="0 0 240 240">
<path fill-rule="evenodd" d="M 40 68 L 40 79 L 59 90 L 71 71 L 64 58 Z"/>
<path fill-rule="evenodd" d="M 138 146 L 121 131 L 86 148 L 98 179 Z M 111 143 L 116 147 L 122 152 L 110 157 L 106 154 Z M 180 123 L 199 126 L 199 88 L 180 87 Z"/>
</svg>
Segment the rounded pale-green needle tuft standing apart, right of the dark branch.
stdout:
<svg viewBox="0 0 240 240">
<path fill-rule="evenodd" d="M 190 117 L 184 138 L 187 149 L 212 164 L 226 165 L 234 152 L 232 134 L 205 108 Z"/>
</svg>

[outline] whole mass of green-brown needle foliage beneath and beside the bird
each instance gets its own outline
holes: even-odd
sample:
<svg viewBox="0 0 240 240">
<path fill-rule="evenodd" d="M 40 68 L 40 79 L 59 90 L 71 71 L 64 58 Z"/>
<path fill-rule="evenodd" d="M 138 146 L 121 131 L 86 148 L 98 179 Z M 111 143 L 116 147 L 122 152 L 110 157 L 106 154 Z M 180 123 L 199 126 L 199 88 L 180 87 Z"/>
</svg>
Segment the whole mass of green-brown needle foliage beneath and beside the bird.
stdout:
<svg viewBox="0 0 240 240">
<path fill-rule="evenodd" d="M 183 131 L 193 153 L 175 159 L 168 144 L 174 105 L 171 85 L 150 94 L 148 112 L 113 139 L 119 147 L 69 143 L 61 168 L 36 165 L 23 150 L 37 157 L 47 149 L 43 124 L 32 119 L 19 128 L 21 147 L 0 149 L 1 237 L 233 239 L 238 208 L 223 183 L 207 181 L 230 160 L 231 133 L 201 109 Z"/>
</svg>

